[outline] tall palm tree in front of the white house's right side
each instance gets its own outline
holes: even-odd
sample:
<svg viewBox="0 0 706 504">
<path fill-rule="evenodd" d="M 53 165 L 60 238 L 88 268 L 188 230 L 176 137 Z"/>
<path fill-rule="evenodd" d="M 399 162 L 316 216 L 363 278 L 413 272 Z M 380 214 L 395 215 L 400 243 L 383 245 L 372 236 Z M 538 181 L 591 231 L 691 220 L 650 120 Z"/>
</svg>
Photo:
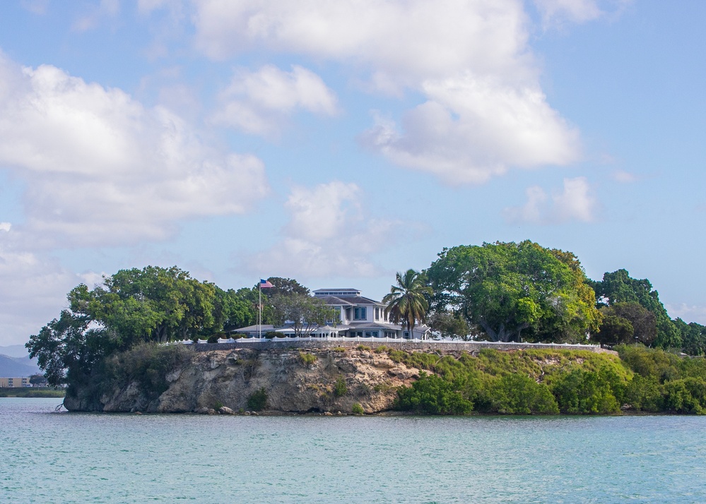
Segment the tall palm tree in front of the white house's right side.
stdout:
<svg viewBox="0 0 706 504">
<path fill-rule="evenodd" d="M 414 323 L 426 321 L 429 302 L 425 294 L 433 293 L 431 287 L 425 284 L 423 274 L 409 269 L 406 272 L 398 272 L 396 275 L 397 284 L 390 287 L 390 293 L 382 298 L 382 302 L 387 304 L 385 314 L 393 323 L 404 322 L 412 337 Z"/>
</svg>

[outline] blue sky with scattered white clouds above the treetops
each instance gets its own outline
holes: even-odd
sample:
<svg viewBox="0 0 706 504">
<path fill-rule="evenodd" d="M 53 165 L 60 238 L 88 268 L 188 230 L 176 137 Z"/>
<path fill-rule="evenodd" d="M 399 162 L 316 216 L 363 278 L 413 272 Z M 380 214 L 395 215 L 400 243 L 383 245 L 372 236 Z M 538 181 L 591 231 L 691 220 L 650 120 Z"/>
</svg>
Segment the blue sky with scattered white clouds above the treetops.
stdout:
<svg viewBox="0 0 706 504">
<path fill-rule="evenodd" d="M 0 346 L 177 265 L 381 299 L 530 239 L 706 324 L 706 3 L 0 2 Z"/>
</svg>

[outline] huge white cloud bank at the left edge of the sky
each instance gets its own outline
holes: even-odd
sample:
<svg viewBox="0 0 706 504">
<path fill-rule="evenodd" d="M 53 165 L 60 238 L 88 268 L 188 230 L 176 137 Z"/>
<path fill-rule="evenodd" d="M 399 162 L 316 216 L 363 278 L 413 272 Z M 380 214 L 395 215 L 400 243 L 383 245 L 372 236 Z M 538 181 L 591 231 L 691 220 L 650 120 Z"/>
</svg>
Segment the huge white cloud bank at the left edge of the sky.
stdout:
<svg viewBox="0 0 706 504">
<path fill-rule="evenodd" d="M 160 239 L 178 220 L 245 212 L 268 191 L 257 157 L 211 147 L 169 110 L 1 53 L 0 166 L 26 181 L 14 229 L 34 245 Z"/>
</svg>

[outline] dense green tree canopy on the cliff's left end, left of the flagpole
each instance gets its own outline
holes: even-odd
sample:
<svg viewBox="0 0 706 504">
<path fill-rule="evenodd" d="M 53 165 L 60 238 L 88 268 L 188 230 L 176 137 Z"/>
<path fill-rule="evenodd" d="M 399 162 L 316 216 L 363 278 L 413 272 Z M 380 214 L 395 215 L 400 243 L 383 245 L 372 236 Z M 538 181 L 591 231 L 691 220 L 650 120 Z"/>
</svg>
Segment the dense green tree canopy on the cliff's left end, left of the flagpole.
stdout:
<svg viewBox="0 0 706 504">
<path fill-rule="evenodd" d="M 252 323 L 256 312 L 248 292 L 223 291 L 176 266 L 119 270 L 93 289 L 85 284 L 71 289 L 69 309 L 26 346 L 51 385 L 79 383 L 112 352 Z"/>
</svg>

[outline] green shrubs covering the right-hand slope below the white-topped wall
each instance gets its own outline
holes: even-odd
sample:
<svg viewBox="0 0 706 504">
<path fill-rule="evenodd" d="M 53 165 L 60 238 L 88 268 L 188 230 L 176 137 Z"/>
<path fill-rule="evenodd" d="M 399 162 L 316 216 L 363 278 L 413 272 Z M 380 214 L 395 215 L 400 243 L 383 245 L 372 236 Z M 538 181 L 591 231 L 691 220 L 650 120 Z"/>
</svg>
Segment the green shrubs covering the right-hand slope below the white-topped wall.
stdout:
<svg viewBox="0 0 706 504">
<path fill-rule="evenodd" d="M 484 349 L 478 356 L 389 351 L 431 371 L 401 388 L 396 407 L 420 414 L 706 413 L 706 361 L 621 345 L 618 356 L 586 351 Z"/>
</svg>

